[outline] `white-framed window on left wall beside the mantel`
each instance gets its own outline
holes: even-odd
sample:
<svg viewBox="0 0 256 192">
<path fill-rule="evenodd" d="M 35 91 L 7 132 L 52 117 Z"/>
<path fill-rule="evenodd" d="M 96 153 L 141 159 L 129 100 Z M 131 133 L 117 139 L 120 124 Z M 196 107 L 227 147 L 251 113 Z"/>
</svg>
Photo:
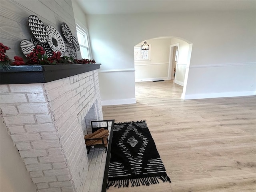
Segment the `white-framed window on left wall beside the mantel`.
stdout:
<svg viewBox="0 0 256 192">
<path fill-rule="evenodd" d="M 86 29 L 87 30 L 87 29 Z M 91 59 L 88 32 L 76 24 L 76 33 L 83 59 Z M 88 30 L 87 30 L 88 31 Z"/>
</svg>

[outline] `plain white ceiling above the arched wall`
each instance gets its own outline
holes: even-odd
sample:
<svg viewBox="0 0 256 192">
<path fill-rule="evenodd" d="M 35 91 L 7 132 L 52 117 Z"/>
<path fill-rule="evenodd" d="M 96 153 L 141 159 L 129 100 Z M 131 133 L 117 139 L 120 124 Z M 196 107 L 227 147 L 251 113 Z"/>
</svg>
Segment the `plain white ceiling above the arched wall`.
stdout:
<svg viewBox="0 0 256 192">
<path fill-rule="evenodd" d="M 256 11 L 256 0 L 74 0 L 86 14 Z"/>
</svg>

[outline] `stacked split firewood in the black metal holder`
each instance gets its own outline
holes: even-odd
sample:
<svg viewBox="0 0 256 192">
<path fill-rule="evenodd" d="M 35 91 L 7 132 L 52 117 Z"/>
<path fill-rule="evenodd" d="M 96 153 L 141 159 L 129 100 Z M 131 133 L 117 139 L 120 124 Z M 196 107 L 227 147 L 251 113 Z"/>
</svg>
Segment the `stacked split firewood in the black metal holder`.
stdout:
<svg viewBox="0 0 256 192">
<path fill-rule="evenodd" d="M 93 132 L 92 134 L 87 134 L 84 136 L 86 146 L 104 144 L 104 147 L 108 145 L 108 130 L 100 128 Z M 92 140 L 93 139 L 93 140 Z"/>
</svg>

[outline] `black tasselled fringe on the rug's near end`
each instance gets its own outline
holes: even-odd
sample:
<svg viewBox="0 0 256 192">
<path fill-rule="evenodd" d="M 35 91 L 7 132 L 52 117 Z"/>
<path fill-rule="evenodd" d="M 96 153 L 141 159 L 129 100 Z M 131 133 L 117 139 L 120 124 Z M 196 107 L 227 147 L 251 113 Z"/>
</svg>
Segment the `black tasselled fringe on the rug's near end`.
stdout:
<svg viewBox="0 0 256 192">
<path fill-rule="evenodd" d="M 131 186 L 138 187 L 140 185 L 146 185 L 149 186 L 151 184 L 159 184 L 158 179 L 162 180 L 162 182 L 170 182 L 171 180 L 167 175 L 163 176 L 154 176 L 154 177 L 145 177 L 145 178 L 137 178 L 137 179 L 122 179 L 122 180 L 115 180 L 115 181 L 108 181 L 107 188 L 110 188 L 111 186 L 121 188 L 121 187 L 129 187 L 129 184 L 131 182 Z"/>
</svg>

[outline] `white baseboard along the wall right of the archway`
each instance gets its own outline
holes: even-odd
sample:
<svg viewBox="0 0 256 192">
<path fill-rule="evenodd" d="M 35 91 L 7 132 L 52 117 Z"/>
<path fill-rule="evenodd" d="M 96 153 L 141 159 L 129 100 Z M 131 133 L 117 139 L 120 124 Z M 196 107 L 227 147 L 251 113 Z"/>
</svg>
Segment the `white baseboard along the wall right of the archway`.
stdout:
<svg viewBox="0 0 256 192">
<path fill-rule="evenodd" d="M 221 97 L 243 97 L 255 96 L 256 91 L 239 91 L 239 92 L 223 92 L 223 93 L 207 93 L 207 94 L 189 94 L 182 93 L 181 98 L 184 100 L 190 99 L 207 99 L 207 98 L 221 98 Z"/>
</svg>

